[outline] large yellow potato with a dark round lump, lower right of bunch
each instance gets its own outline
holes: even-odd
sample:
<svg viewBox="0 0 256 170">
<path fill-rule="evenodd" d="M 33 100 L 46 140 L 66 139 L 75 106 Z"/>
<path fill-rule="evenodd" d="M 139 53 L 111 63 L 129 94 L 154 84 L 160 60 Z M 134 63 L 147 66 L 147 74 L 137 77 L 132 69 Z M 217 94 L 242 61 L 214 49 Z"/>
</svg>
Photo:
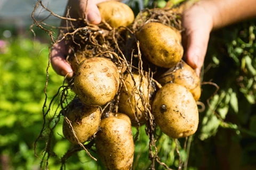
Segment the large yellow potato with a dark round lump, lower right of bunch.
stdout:
<svg viewBox="0 0 256 170">
<path fill-rule="evenodd" d="M 162 132 L 171 138 L 188 137 L 197 130 L 196 101 L 188 89 L 179 84 L 167 83 L 157 91 L 152 114 Z"/>
</svg>

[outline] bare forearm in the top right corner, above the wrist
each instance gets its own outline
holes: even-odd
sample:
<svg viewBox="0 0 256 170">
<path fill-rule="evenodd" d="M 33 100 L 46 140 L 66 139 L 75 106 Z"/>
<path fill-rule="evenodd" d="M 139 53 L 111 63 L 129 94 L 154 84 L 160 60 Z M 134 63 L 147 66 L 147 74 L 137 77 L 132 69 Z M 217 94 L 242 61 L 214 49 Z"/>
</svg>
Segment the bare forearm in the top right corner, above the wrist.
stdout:
<svg viewBox="0 0 256 170">
<path fill-rule="evenodd" d="M 212 29 L 256 16 L 256 0 L 202 0 L 199 4 L 212 16 Z"/>
</svg>

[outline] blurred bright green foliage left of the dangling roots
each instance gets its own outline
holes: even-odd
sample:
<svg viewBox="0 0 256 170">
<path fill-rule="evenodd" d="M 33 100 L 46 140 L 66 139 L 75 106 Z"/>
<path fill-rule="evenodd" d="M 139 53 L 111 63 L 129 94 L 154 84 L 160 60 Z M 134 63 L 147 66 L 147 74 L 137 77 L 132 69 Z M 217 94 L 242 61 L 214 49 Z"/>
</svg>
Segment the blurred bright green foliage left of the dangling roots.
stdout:
<svg viewBox="0 0 256 170">
<path fill-rule="evenodd" d="M 26 38 L 6 42 L 0 57 L 0 155 L 9 157 L 10 169 L 33 169 L 39 164 L 33 145 L 42 128 L 48 47 Z M 62 80 L 50 73 L 52 96 Z"/>
</svg>

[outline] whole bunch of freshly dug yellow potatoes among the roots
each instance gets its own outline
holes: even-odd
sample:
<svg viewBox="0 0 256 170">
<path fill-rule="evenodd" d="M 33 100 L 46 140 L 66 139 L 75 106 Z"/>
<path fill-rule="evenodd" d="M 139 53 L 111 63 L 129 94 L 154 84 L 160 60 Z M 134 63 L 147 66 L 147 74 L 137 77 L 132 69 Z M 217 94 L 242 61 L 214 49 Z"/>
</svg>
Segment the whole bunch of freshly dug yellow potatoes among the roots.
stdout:
<svg viewBox="0 0 256 170">
<path fill-rule="evenodd" d="M 134 14 L 129 6 L 108 1 L 98 7 L 102 22 L 111 28 L 132 27 Z M 171 138 L 188 137 L 198 126 L 196 101 L 201 95 L 200 80 L 181 60 L 180 31 L 160 22 L 145 22 L 133 35 L 143 60 L 163 68 L 164 73 L 154 78 L 162 86 L 156 89 L 146 71 L 121 71 L 111 58 L 86 58 L 79 61 L 76 68 L 74 91 L 77 97 L 66 109 L 69 121 L 63 121 L 66 139 L 74 145 L 94 140 L 98 155 L 108 169 L 131 169 L 132 125 L 145 123 L 148 112 L 162 132 Z M 102 109 L 111 101 L 117 101 L 117 96 L 115 113 L 103 114 Z"/>
</svg>

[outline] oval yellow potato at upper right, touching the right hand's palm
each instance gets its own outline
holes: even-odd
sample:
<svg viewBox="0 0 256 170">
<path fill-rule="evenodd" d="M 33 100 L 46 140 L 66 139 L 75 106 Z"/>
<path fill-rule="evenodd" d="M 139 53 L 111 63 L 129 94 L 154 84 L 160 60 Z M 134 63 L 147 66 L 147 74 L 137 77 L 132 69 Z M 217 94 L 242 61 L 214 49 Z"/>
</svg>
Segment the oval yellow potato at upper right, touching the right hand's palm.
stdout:
<svg viewBox="0 0 256 170">
<path fill-rule="evenodd" d="M 172 28 L 159 22 L 150 22 L 136 32 L 136 37 L 142 54 L 156 66 L 171 68 L 180 62 L 183 48 Z"/>
</svg>

